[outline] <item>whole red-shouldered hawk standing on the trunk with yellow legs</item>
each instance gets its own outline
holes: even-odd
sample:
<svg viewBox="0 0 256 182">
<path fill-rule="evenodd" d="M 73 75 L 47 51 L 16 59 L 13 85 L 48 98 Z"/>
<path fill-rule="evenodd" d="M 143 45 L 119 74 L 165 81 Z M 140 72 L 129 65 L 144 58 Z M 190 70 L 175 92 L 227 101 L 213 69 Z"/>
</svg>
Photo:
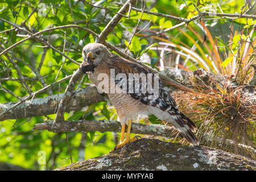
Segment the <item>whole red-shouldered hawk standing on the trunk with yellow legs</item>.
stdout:
<svg viewBox="0 0 256 182">
<path fill-rule="evenodd" d="M 108 94 L 117 111 L 122 131 L 116 148 L 136 140 L 130 138 L 131 122 L 139 115 L 149 114 L 170 122 L 189 143 L 199 144 L 193 134 L 196 131 L 195 123 L 178 110 L 176 102 L 155 73 L 115 55 L 99 43 L 87 44 L 82 49 L 82 56 L 82 72 L 88 73 L 98 92 Z"/>
</svg>

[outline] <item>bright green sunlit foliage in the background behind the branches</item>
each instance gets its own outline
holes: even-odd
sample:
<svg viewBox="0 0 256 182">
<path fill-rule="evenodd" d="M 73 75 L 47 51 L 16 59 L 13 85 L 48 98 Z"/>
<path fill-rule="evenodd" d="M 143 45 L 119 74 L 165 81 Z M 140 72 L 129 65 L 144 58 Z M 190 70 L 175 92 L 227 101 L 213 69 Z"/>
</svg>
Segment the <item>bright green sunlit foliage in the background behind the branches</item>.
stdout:
<svg viewBox="0 0 256 182">
<path fill-rule="evenodd" d="M 43 5 L 45 6 L 40 4 L 41 2 L 43 2 Z M 116 5 L 115 2 L 117 1 L 92 1 L 94 5 L 108 7 L 113 11 L 117 11 L 118 7 L 120 6 Z M 187 4 L 187 6 L 184 2 Z M 222 11 L 225 13 L 241 13 L 241 7 L 244 5 L 244 1 L 230 0 L 159 0 L 147 1 L 146 9 L 154 12 L 176 15 L 183 18 L 191 18 L 198 13 L 196 7 L 202 11 L 211 10 L 212 5 L 216 5 L 217 3 L 219 3 Z M 137 6 L 138 8 L 141 8 L 140 1 L 137 2 Z M 35 8 L 37 8 L 37 10 L 35 10 Z M 220 11 L 218 7 L 217 9 L 217 11 Z M 35 10 L 34 13 L 32 13 L 33 10 Z M 28 18 L 31 13 L 32 15 Z M 113 12 L 109 11 L 105 13 L 104 10 L 92 7 L 84 1 L 0 0 L 0 17 L 17 25 L 24 22 L 22 26 L 28 28 L 32 32 L 41 31 L 49 27 L 63 26 L 67 24 L 79 24 L 82 27 L 89 28 L 97 34 L 100 34 L 113 16 Z M 130 13 L 130 19 L 122 18 L 121 22 L 114 28 L 112 33 L 108 35 L 106 41 L 113 45 L 119 45 L 120 48 L 128 46 L 129 39 L 127 39 L 127 35 L 125 34 L 128 34 L 129 32 L 130 34 L 133 33 L 133 28 L 137 26 L 138 19 L 140 17 L 141 13 L 137 13 L 136 11 L 132 10 Z M 150 31 L 164 30 L 165 28 L 169 28 L 180 23 L 172 19 L 144 14 L 139 27 L 143 28 L 149 21 L 151 22 L 149 26 L 146 27 L 146 33 Z M 238 28 L 243 28 L 247 25 L 248 27 L 246 27 L 247 29 L 245 30 L 246 35 L 248 34 L 249 30 L 251 30 L 251 26 L 253 26 L 253 23 L 247 23 L 248 21 L 246 18 L 240 18 L 232 21 L 234 26 Z M 218 20 L 217 24 L 214 24 L 214 20 L 205 21 L 207 26 L 210 28 L 212 35 L 217 36 L 220 39 L 218 42 L 224 44 L 223 47 L 225 47 L 225 44 L 228 44 L 228 38 L 225 36 L 225 23 L 230 22 L 231 20 L 229 19 L 220 19 Z M 195 23 L 191 22 L 190 25 L 195 28 L 199 35 L 204 36 L 203 31 L 201 31 L 200 28 L 195 25 Z M 13 27 L 10 24 L 0 20 L 0 32 L 9 30 L 10 28 Z M 186 31 L 187 34 L 193 39 L 197 39 L 196 35 L 187 28 L 184 28 L 184 31 Z M 1 52 L 3 49 L 13 45 L 19 40 L 22 40 L 23 37 L 20 34 L 26 35 L 22 31 L 18 32 L 15 30 L 1 33 Z M 145 32 L 142 31 L 141 34 L 145 34 Z M 187 36 L 181 34 L 181 32 L 177 29 L 167 32 L 167 35 L 170 35 L 170 39 L 171 36 L 173 36 L 175 38 L 174 41 L 177 44 L 179 42 L 183 42 L 189 47 L 192 47 L 193 44 L 195 44 L 191 41 L 191 39 L 188 39 Z M 254 37 L 255 33 L 253 35 L 253 38 Z M 64 39 L 66 39 L 66 55 L 72 57 L 72 59 L 78 61 L 79 63 L 82 62 L 82 47 L 84 47 L 85 44 L 95 41 L 92 35 L 79 28 L 66 28 L 48 31 L 42 35 L 42 38 L 46 39 L 61 52 L 63 51 Z M 135 35 L 129 46 L 131 55 L 134 57 L 139 57 L 143 52 L 147 51 L 148 55 L 150 55 L 152 58 L 151 66 L 155 67 L 159 61 L 159 54 L 155 50 L 146 50 L 146 48 L 156 42 L 156 39 Z M 206 42 L 209 44 L 209 40 L 206 40 Z M 157 44 L 154 44 L 153 46 L 156 45 Z M 11 49 L 9 52 L 11 55 L 13 55 L 12 58 L 15 60 L 15 63 L 18 64 L 18 67 L 20 68 L 24 77 L 36 76 L 31 68 L 25 63 L 38 68 L 44 52 L 44 47 L 42 46 L 43 45 L 36 39 L 30 39 Z M 203 47 L 203 49 L 206 51 L 205 47 Z M 226 51 L 225 48 L 224 51 Z M 17 61 L 16 57 L 19 57 L 24 62 Z M 227 57 L 224 56 L 222 57 L 222 60 L 225 60 L 226 58 Z M 62 65 L 63 68 L 61 68 Z M 201 67 L 201 65 L 193 63 L 193 61 L 189 60 L 184 67 L 194 70 Z M 61 71 L 59 75 L 57 75 L 60 68 Z M 44 77 L 46 84 L 49 85 L 67 75 L 72 75 L 73 71 L 76 71 L 77 68 L 78 65 L 65 59 L 59 53 L 49 48 L 47 49 L 46 58 L 44 59 L 42 68 L 40 69 L 40 75 Z M 0 78 L 5 77 L 18 78 L 19 75 L 14 68 L 14 65 L 10 63 L 6 56 L 2 55 L 0 57 Z M 85 76 L 83 79 L 82 87 L 85 87 L 88 85 L 87 83 L 90 82 L 90 80 L 87 76 Z M 24 97 L 28 94 L 20 81 L 1 81 L 1 84 L 3 87 L 16 94 L 16 96 Z M 42 82 L 38 80 L 27 81 L 27 84 L 30 86 L 33 92 L 44 87 Z M 53 94 L 63 93 L 67 84 L 68 80 L 61 82 L 59 85 L 53 86 Z M 38 94 L 36 97 L 46 96 L 49 96 L 49 92 Z M 3 90 L 0 90 L 1 103 L 16 101 L 18 101 L 18 98 L 4 92 Z M 72 162 L 77 162 L 78 160 L 104 155 L 112 150 L 118 141 L 118 136 L 112 132 L 52 133 L 49 131 L 33 130 L 36 123 L 42 123 L 54 118 L 55 114 L 52 114 L 26 119 L 8 119 L 0 122 L 0 162 L 17 164 L 30 169 L 54 169 L 71 164 L 71 157 Z M 113 107 L 110 107 L 109 102 L 101 102 L 86 107 L 84 111 L 65 113 L 64 118 L 114 120 L 117 117 Z M 150 121 L 152 121 L 152 119 Z M 40 151 L 44 151 L 46 154 L 46 165 L 40 165 L 38 163 L 40 157 L 42 156 L 39 155 Z"/>
</svg>

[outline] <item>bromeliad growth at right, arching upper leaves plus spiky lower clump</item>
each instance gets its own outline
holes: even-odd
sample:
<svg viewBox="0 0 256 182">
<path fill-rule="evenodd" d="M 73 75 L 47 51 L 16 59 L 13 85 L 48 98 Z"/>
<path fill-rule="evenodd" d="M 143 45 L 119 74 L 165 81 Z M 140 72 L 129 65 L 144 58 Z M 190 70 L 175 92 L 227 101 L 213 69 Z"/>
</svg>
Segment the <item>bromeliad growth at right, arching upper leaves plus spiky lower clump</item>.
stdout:
<svg viewBox="0 0 256 182">
<path fill-rule="evenodd" d="M 172 52 L 183 58 L 175 59 L 176 67 L 204 69 L 194 71 L 190 77 L 195 92 L 174 95 L 175 100 L 180 98 L 183 111 L 197 122 L 201 144 L 255 159 L 256 21 L 247 22 L 246 29 L 240 33 L 230 26 L 228 44 L 213 37 L 201 21 L 197 25 L 204 31 L 203 35 L 188 26 L 187 32 L 178 29 L 179 39 L 171 35 L 164 35 L 170 37 L 169 40 L 151 36 L 160 40 L 158 47 L 151 49 L 166 51 L 166 55 Z M 193 46 L 182 42 L 180 34 Z"/>
</svg>

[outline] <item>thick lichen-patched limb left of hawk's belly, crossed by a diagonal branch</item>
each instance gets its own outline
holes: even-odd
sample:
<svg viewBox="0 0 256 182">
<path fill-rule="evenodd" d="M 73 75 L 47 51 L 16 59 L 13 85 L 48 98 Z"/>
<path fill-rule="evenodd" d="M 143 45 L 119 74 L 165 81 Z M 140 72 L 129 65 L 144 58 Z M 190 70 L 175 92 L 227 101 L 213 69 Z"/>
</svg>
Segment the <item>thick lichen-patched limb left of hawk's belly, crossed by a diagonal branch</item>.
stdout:
<svg viewBox="0 0 256 182">
<path fill-rule="evenodd" d="M 59 105 L 61 98 L 63 98 L 64 93 L 55 94 L 52 96 L 44 98 L 34 98 L 32 101 L 24 101 L 19 106 L 14 109 L 9 110 L 11 107 L 16 105 L 18 102 L 9 102 L 5 104 L 0 104 L 0 114 L 7 111 L 2 115 L 0 121 L 6 119 L 18 119 L 18 118 L 29 118 L 39 115 L 54 114 L 56 108 Z M 65 111 L 71 110 L 81 110 L 82 107 L 101 102 L 106 100 L 102 94 L 97 92 L 95 86 L 88 86 L 86 88 L 80 89 L 72 95 L 71 100 L 68 102 Z"/>
</svg>

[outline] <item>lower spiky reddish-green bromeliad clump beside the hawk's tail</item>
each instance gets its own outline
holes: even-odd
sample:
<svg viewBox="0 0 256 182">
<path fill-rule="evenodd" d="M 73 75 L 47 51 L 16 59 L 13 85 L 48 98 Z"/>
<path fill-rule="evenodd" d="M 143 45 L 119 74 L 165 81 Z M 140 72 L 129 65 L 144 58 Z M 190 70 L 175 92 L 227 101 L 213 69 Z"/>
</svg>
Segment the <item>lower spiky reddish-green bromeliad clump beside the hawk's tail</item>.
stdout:
<svg viewBox="0 0 256 182">
<path fill-rule="evenodd" d="M 234 76 L 217 76 L 203 69 L 194 71 L 189 82 L 195 92 L 174 97 L 182 110 L 197 113 L 191 118 L 200 123 L 201 144 L 255 159 L 255 86 L 241 86 Z"/>
</svg>

